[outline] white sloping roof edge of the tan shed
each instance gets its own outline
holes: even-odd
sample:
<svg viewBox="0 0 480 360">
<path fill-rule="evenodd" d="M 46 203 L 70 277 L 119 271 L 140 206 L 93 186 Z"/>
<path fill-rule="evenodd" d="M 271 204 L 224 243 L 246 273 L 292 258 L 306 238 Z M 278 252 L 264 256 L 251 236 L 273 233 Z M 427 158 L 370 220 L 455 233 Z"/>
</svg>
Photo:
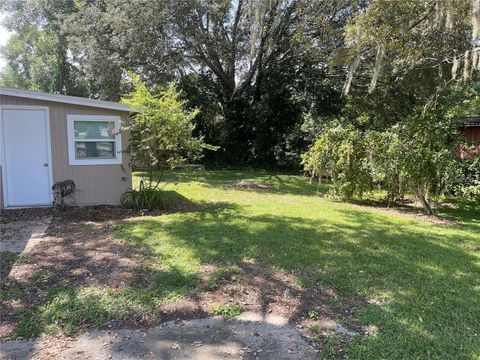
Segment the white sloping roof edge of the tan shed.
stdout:
<svg viewBox="0 0 480 360">
<path fill-rule="evenodd" d="M 119 111 L 128 111 L 128 112 L 135 111 L 128 105 L 113 102 L 113 101 L 96 100 L 96 99 L 82 98 L 78 96 L 50 94 L 50 93 L 43 93 L 43 92 L 37 92 L 37 91 L 31 91 L 31 90 L 13 89 L 13 88 L 7 88 L 3 86 L 0 86 L 0 95 L 16 96 L 16 97 L 27 98 L 27 99 L 35 99 L 35 100 L 52 101 L 52 102 L 58 102 L 63 104 L 90 106 L 90 107 L 96 107 L 100 109 L 110 109 L 110 110 L 119 110 Z"/>
</svg>

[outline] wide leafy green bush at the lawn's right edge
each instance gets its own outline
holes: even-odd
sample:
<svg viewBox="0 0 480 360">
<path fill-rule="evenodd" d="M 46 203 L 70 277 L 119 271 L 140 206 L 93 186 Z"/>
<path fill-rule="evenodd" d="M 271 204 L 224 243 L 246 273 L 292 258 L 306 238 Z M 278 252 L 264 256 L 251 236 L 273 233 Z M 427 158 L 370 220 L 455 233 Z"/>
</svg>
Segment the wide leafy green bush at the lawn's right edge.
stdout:
<svg viewBox="0 0 480 360">
<path fill-rule="evenodd" d="M 302 164 L 319 180 L 330 178 L 334 195 L 362 197 L 380 185 L 392 202 L 411 191 L 431 215 L 429 198 L 451 192 L 462 178 L 455 132 L 451 118 L 435 113 L 412 116 L 382 131 L 335 123 L 303 154 Z M 462 190 L 475 194 L 471 185 Z"/>
</svg>

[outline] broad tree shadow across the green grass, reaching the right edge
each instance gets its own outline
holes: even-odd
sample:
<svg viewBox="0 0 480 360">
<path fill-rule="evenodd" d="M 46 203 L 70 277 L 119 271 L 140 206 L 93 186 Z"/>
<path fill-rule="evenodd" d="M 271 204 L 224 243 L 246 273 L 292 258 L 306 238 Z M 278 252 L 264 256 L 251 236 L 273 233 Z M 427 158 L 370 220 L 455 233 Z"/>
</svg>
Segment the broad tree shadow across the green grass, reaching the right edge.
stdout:
<svg viewBox="0 0 480 360">
<path fill-rule="evenodd" d="M 118 236 L 142 241 L 135 237 L 142 229 L 152 252 L 168 243 L 179 250 L 179 262 L 186 260 L 183 250 L 200 264 L 251 259 L 270 268 L 310 270 L 314 281 L 369 302 L 360 319 L 380 330 L 355 340 L 359 346 L 351 351 L 359 358 L 458 357 L 459 348 L 465 354 L 480 350 L 472 332 L 480 315 L 480 265 L 472 249 L 480 239 L 471 228 L 402 225 L 372 213 L 337 211 L 346 222 L 206 209 L 161 227 L 140 220 Z"/>
</svg>

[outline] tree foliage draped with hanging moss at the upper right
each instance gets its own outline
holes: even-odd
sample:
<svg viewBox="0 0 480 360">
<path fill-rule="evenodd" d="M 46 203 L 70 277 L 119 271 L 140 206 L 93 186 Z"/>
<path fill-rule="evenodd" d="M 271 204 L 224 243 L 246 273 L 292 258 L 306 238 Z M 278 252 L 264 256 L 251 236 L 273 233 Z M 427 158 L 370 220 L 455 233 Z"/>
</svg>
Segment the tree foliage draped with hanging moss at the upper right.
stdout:
<svg viewBox="0 0 480 360">
<path fill-rule="evenodd" d="M 351 65 L 344 92 L 357 83 L 372 93 L 394 80 L 425 102 L 438 86 L 466 81 L 476 69 L 472 39 L 479 29 L 477 0 L 372 1 L 346 29 Z"/>
</svg>

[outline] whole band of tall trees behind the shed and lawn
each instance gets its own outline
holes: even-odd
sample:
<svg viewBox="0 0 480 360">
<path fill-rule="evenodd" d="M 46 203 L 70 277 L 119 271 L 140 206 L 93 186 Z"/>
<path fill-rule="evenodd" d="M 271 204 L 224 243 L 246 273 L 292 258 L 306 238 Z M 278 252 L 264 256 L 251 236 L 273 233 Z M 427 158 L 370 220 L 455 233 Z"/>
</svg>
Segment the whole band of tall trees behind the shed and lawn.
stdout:
<svg viewBox="0 0 480 360">
<path fill-rule="evenodd" d="M 386 131 L 439 104 L 474 111 L 479 6 L 5 0 L 1 83 L 116 101 L 129 71 L 153 91 L 173 82 L 200 110 L 195 134 L 220 147 L 205 161 L 299 168 L 332 122 Z"/>
</svg>

